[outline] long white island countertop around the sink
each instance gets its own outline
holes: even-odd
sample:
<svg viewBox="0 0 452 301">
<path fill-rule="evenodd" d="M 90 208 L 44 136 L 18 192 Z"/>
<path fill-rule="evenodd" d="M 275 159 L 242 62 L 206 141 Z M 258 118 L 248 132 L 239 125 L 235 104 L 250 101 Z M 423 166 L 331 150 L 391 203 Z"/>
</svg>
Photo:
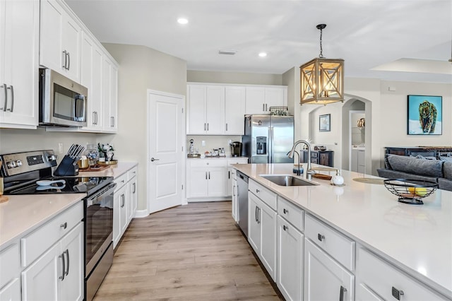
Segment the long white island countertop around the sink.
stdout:
<svg viewBox="0 0 452 301">
<path fill-rule="evenodd" d="M 398 202 L 373 178 L 344 170 L 344 187 L 314 178 L 318 186 L 282 187 L 260 175 L 293 175 L 292 164 L 233 165 L 420 281 L 452 297 L 452 191 L 436 190 L 423 205 Z M 314 165 L 315 166 L 315 165 Z M 304 164 L 304 170 L 306 170 Z M 327 174 L 328 172 L 321 172 Z M 334 172 L 330 173 L 334 175 Z M 302 176 L 303 177 L 303 176 Z"/>
</svg>

